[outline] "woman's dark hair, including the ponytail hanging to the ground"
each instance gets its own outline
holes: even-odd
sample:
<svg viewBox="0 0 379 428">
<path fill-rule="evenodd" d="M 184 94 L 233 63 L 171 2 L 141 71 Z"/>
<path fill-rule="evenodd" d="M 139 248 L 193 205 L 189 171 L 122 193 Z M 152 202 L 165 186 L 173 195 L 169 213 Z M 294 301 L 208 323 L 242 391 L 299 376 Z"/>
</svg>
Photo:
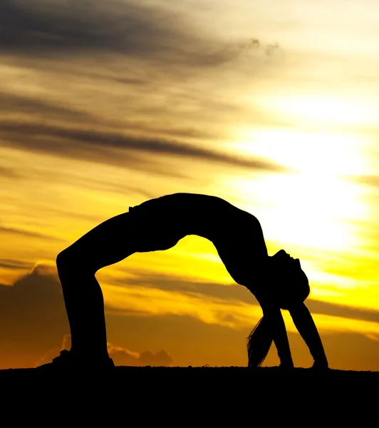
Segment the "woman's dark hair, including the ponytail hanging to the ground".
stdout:
<svg viewBox="0 0 379 428">
<path fill-rule="evenodd" d="M 308 297 L 310 292 L 308 277 L 306 277 L 303 270 L 300 270 L 295 275 L 291 275 L 291 283 L 288 286 L 287 284 L 281 284 L 275 290 L 277 295 L 271 300 L 272 305 L 281 309 L 289 309 Z M 260 367 L 269 353 L 273 341 L 271 322 L 275 322 L 274 320 L 271 317 L 270 319 L 264 316 L 261 317 L 254 329 L 251 330 L 249 337 L 247 337 L 249 367 Z"/>
</svg>

